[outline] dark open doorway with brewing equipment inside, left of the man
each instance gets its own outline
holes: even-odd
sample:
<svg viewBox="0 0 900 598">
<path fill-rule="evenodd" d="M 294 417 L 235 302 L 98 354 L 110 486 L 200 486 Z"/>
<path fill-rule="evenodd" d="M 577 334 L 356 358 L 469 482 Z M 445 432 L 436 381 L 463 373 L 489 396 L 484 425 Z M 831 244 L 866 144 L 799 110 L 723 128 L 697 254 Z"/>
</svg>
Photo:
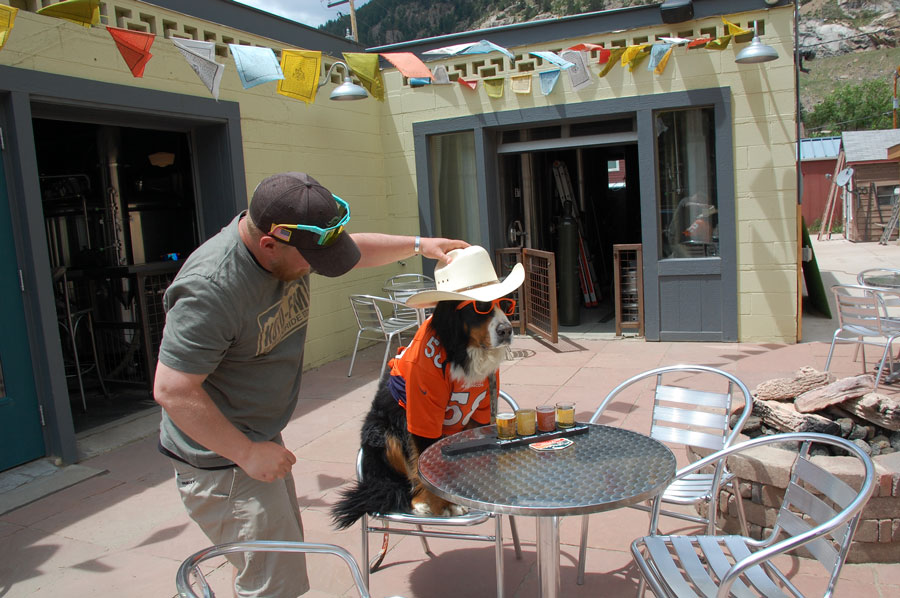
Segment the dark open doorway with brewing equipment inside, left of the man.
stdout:
<svg viewBox="0 0 900 598">
<path fill-rule="evenodd" d="M 75 432 L 155 404 L 162 292 L 197 247 L 187 133 L 35 118 Z"/>
</svg>

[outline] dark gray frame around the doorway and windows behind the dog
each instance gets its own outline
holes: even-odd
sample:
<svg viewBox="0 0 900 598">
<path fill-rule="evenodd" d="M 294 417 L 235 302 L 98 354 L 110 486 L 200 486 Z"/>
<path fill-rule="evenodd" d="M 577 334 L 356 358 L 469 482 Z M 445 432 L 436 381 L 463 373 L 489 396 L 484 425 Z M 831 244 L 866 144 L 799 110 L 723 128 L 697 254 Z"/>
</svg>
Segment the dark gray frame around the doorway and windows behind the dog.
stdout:
<svg viewBox="0 0 900 598">
<path fill-rule="evenodd" d="M 709 106 L 715 112 L 716 186 L 719 202 L 719 229 L 730 231 L 720 239 L 719 256 L 699 259 L 659 259 L 659 210 L 656 181 L 655 113 L 660 110 Z M 423 234 L 433 232 L 431 206 L 431 170 L 428 137 L 460 131 L 474 131 L 478 161 L 477 189 L 480 210 L 488 217 L 482 239 L 469 239 L 485 247 L 502 247 L 504 231 L 499 222 L 499 207 L 488 198 L 498 197 L 496 133 L 502 129 L 533 127 L 596 120 L 616 115 L 634 115 L 637 125 L 639 168 L 641 176 L 641 227 L 644 256 L 644 319 L 647 340 L 736 341 L 738 335 L 737 297 L 737 228 L 735 218 L 734 145 L 731 117 L 731 90 L 708 88 L 683 92 L 648 94 L 629 98 L 613 98 L 524 110 L 489 112 L 413 125 L 416 152 L 416 181 L 419 197 L 419 225 Z M 721 326 L 697 334 L 674 335 L 660 339 L 659 278 L 714 277 L 720 280 Z M 664 335 L 665 336 L 665 335 Z"/>
</svg>

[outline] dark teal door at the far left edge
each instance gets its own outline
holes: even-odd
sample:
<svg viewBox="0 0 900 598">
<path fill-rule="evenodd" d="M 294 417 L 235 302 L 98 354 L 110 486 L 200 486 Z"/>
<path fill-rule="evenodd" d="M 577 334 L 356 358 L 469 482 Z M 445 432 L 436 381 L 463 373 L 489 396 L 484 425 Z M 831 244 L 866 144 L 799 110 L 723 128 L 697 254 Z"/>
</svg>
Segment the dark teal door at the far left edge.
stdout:
<svg viewBox="0 0 900 598">
<path fill-rule="evenodd" d="M 0 161 L 0 471 L 45 454 L 12 232 Z"/>
</svg>

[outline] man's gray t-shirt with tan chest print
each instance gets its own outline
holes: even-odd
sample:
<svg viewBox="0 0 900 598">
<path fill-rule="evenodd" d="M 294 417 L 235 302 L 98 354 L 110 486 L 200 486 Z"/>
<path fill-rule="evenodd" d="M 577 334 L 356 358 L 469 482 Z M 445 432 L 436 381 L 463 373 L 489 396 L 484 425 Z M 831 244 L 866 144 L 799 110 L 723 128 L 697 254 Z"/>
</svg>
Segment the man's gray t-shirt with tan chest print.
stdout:
<svg viewBox="0 0 900 598">
<path fill-rule="evenodd" d="M 309 276 L 282 282 L 238 234 L 237 216 L 194 251 L 166 290 L 159 361 L 207 374 L 203 388 L 250 440 L 272 440 L 297 404 Z M 231 462 L 191 440 L 163 411 L 160 444 L 195 467 Z"/>
</svg>

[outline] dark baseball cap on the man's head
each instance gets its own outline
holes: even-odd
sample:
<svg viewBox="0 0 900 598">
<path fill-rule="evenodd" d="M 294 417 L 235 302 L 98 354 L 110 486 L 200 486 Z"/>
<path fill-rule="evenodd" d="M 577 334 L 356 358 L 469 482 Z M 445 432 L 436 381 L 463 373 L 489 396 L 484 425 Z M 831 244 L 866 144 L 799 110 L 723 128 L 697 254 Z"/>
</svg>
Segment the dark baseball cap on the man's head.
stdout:
<svg viewBox="0 0 900 598">
<path fill-rule="evenodd" d="M 328 230 L 349 219 L 347 203 L 304 172 L 282 172 L 263 179 L 253 191 L 249 213 L 263 234 L 296 247 L 319 274 L 340 276 L 359 262 L 359 247 L 342 228 L 324 243 L 317 232 L 289 226 L 273 230 L 279 224 Z"/>
</svg>

